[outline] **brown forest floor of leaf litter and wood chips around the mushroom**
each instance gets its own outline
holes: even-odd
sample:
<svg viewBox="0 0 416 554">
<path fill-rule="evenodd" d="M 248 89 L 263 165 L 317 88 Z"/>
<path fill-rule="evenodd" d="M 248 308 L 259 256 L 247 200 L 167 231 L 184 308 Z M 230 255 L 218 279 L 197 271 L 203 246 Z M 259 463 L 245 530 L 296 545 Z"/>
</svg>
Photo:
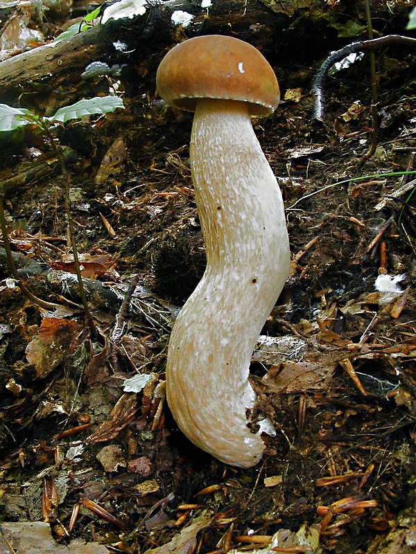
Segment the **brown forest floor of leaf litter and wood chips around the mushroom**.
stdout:
<svg viewBox="0 0 416 554">
<path fill-rule="evenodd" d="M 379 140 L 363 161 L 369 71 L 364 60 L 327 81 L 325 125 L 311 123 L 310 82 L 253 121 L 284 195 L 293 262 L 253 354 L 277 436 L 250 470 L 193 447 L 164 402 L 168 334 L 205 268 L 192 115 L 149 90 L 123 111 L 55 129 L 78 155 L 71 206 L 84 276 L 98 283 L 89 304 L 100 337 L 69 290 L 55 171 L 5 201 L 19 264 L 39 262 L 27 286 L 62 307 L 28 301 L 0 252 L 1 520 L 46 521 L 61 544 L 85 539 L 94 552 L 413 551 L 416 206 L 413 175 L 401 172 L 414 169 L 414 57 L 378 58 Z M 48 157 L 44 137 L 26 137 L 1 158 L 0 177 Z M 147 377 L 125 391 L 135 375 Z"/>
</svg>

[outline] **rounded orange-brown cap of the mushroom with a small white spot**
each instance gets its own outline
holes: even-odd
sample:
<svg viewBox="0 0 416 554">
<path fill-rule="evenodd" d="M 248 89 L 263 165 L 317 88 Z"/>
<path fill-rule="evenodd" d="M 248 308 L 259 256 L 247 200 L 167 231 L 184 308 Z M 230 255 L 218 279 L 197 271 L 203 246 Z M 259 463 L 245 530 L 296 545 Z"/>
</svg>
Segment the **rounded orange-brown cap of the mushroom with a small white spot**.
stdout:
<svg viewBox="0 0 416 554">
<path fill-rule="evenodd" d="M 157 69 L 166 104 L 195 111 L 198 98 L 243 100 L 250 114 L 271 114 L 279 104 L 277 78 L 265 57 L 234 37 L 205 35 L 177 44 Z"/>
</svg>

